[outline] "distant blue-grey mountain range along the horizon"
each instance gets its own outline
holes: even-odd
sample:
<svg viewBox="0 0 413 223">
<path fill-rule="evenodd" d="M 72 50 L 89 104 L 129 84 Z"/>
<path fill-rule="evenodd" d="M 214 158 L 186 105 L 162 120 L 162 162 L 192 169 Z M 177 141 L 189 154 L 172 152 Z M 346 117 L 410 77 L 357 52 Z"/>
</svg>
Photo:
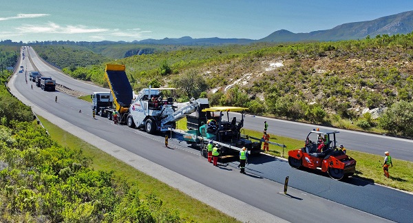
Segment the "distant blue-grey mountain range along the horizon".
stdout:
<svg viewBox="0 0 413 223">
<path fill-rule="evenodd" d="M 364 39 L 367 36 L 375 37 L 381 34 L 407 34 L 413 32 L 413 11 L 401 12 L 372 21 L 360 21 L 337 25 L 330 30 L 319 30 L 306 33 L 293 33 L 288 30 L 277 30 L 268 36 L 253 39 L 220 39 L 201 38 L 193 39 L 184 36 L 178 39 L 144 39 L 133 43 L 145 44 L 179 44 L 179 45 L 220 45 L 220 44 L 246 44 L 253 42 L 297 42 L 297 41 L 341 41 L 348 39 Z"/>
</svg>

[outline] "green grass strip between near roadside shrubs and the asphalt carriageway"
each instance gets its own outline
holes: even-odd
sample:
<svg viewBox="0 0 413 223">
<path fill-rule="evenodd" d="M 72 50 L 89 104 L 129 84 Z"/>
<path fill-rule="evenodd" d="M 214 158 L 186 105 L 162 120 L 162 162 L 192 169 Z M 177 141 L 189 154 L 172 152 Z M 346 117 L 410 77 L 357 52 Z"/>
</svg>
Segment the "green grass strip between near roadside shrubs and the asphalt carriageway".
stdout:
<svg viewBox="0 0 413 223">
<path fill-rule="evenodd" d="M 138 186 L 141 198 L 145 198 L 150 193 L 155 193 L 162 200 L 165 207 L 179 211 L 180 217 L 186 222 L 238 222 L 234 217 L 169 187 L 167 184 L 134 169 L 84 140 L 73 136 L 43 117 L 38 117 L 53 140 L 68 149 L 78 151 L 81 148 L 86 157 L 92 158 L 92 169 L 113 171 L 115 176 L 129 180 L 129 182 Z"/>
</svg>

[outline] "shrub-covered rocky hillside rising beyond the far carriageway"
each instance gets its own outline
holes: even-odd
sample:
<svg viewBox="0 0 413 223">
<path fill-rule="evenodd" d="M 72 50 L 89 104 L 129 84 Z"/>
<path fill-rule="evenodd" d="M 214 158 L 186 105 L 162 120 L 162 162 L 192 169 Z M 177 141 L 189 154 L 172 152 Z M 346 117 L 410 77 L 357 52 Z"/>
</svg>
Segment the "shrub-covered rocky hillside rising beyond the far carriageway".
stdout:
<svg viewBox="0 0 413 223">
<path fill-rule="evenodd" d="M 125 64 L 135 90 L 179 87 L 182 100 L 208 96 L 211 105 L 249 107 L 254 114 L 411 137 L 412 45 L 413 34 L 377 35 L 184 47 L 107 63 Z M 105 85 L 103 68 L 100 63 L 63 71 Z"/>
</svg>

